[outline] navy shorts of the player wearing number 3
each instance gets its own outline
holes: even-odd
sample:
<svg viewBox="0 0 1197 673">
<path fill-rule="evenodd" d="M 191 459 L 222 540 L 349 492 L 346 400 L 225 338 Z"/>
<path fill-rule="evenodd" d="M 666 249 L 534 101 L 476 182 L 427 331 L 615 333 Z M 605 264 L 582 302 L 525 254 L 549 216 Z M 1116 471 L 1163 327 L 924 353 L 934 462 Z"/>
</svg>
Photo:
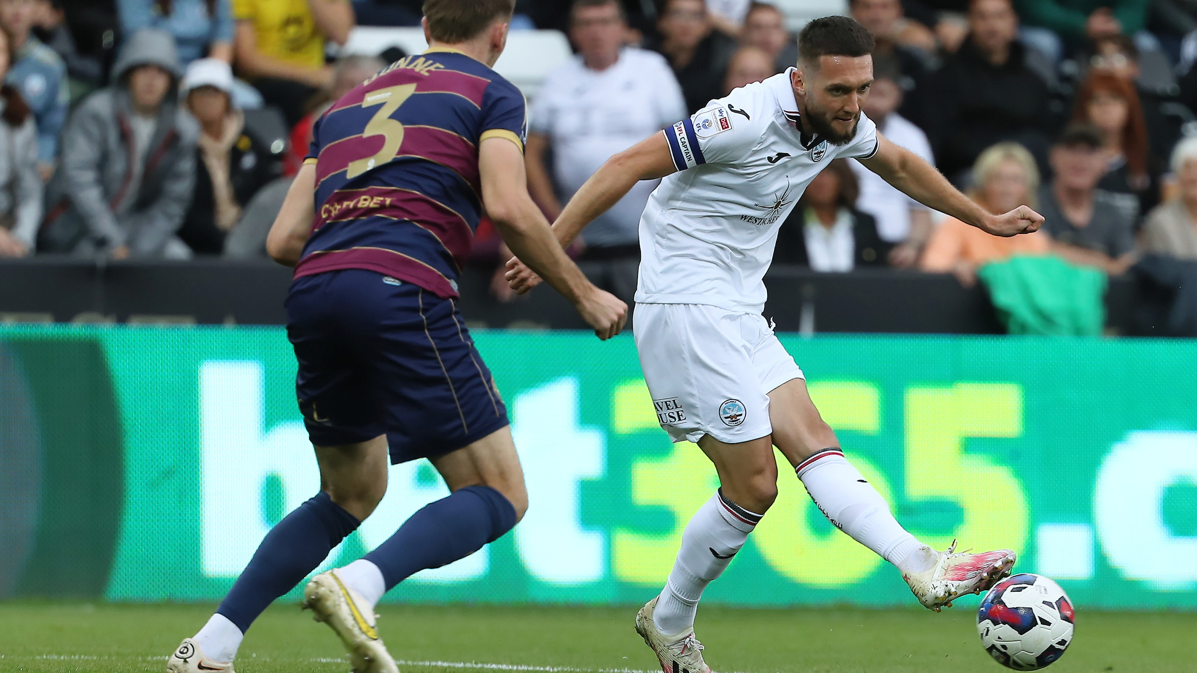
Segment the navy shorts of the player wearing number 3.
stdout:
<svg viewBox="0 0 1197 673">
<path fill-rule="evenodd" d="M 387 435 L 391 462 L 457 450 L 508 425 L 452 299 L 372 271 L 291 285 L 296 395 L 317 447 Z"/>
</svg>

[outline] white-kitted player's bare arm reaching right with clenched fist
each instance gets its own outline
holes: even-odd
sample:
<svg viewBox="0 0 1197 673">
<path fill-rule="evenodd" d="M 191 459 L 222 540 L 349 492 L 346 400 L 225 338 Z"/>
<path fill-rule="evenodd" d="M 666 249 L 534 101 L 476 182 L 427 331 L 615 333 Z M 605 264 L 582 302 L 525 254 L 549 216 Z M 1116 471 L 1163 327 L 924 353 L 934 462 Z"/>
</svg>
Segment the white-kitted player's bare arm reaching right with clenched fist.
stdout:
<svg viewBox="0 0 1197 673">
<path fill-rule="evenodd" d="M 994 214 L 960 193 L 943 175 L 922 157 L 877 134 L 877 153 L 859 159 L 865 168 L 919 204 L 947 213 L 994 236 L 1016 236 L 1039 230 L 1044 217 L 1028 206 Z"/>
</svg>

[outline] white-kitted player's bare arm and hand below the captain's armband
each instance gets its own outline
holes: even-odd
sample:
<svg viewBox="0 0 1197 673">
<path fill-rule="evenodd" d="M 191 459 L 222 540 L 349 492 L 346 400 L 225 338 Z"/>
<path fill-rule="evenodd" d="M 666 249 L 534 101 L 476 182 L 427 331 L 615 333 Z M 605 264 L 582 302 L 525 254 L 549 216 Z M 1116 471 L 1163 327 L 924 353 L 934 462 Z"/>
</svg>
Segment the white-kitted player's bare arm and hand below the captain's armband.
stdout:
<svg viewBox="0 0 1197 673">
<path fill-rule="evenodd" d="M 570 199 L 560 217 L 553 224 L 553 235 L 567 248 L 588 224 L 603 214 L 632 190 L 642 180 L 664 177 L 678 169 L 673 163 L 669 143 L 663 133 L 655 133 L 646 140 L 613 156 Z M 508 262 L 508 283 L 523 295 L 540 283 L 534 269 L 521 263 L 516 256 Z"/>
</svg>

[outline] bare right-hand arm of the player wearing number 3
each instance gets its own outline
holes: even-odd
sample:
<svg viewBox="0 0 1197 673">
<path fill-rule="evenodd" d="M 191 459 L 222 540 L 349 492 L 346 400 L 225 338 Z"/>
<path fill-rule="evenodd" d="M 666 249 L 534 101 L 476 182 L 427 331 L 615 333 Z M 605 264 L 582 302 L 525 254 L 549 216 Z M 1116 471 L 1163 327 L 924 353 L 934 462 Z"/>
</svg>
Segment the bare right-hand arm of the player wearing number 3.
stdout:
<svg viewBox="0 0 1197 673">
<path fill-rule="evenodd" d="M 619 334 L 627 320 L 627 304 L 595 287 L 553 237 L 528 195 L 519 147 L 506 138 L 487 138 L 478 148 L 478 168 L 486 212 L 511 251 L 569 299 L 600 339 Z"/>
</svg>

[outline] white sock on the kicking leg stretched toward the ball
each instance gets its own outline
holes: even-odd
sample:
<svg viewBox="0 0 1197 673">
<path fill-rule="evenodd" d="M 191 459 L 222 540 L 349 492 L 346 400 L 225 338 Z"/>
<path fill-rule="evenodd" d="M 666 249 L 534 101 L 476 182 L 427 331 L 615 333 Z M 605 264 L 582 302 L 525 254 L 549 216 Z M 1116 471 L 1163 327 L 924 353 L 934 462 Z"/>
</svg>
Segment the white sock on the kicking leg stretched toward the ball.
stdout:
<svg viewBox="0 0 1197 673">
<path fill-rule="evenodd" d="M 853 540 L 903 572 L 923 572 L 935 565 L 935 552 L 898 523 L 889 504 L 847 462 L 844 451 L 818 451 L 795 472 L 824 516 Z"/>
</svg>

